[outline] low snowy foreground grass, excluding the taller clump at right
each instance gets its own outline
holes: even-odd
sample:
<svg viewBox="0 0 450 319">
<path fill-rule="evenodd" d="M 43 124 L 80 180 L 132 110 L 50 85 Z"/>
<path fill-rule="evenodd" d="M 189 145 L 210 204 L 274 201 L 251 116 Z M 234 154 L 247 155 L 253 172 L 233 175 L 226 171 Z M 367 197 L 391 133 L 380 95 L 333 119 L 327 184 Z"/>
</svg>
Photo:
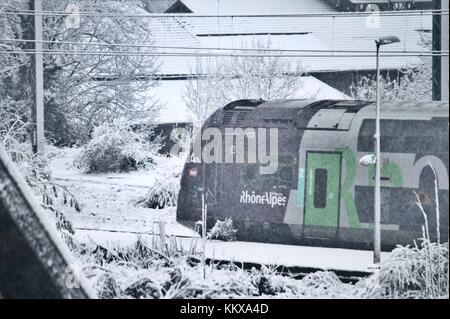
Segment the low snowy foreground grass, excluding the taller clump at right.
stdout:
<svg viewBox="0 0 450 319">
<path fill-rule="evenodd" d="M 198 252 L 181 250 L 175 239 L 161 251 L 158 240 L 138 239 L 125 248 L 91 242 L 75 254 L 100 298 L 356 298 L 365 291 L 332 272 L 298 280 L 272 268 L 247 271 L 235 264 L 211 263 L 204 278 Z"/>
</svg>

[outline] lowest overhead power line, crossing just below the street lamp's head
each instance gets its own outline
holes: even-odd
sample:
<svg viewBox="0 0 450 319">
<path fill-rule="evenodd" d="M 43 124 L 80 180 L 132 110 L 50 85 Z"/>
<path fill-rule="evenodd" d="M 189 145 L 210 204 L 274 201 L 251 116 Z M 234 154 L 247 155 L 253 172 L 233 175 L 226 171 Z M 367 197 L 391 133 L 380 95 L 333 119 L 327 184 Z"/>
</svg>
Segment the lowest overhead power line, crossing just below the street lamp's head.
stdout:
<svg viewBox="0 0 450 319">
<path fill-rule="evenodd" d="M 228 47 L 205 47 L 205 46 L 170 46 L 170 45 L 154 45 L 154 44 L 128 44 L 128 43 L 92 43 L 92 42 L 75 42 L 75 41 L 51 41 L 51 40 L 27 40 L 27 39 L 1 39 L 0 42 L 12 43 L 45 43 L 55 45 L 75 45 L 90 47 L 107 47 L 107 48 L 149 48 L 149 49 L 173 49 L 173 50 L 207 50 L 207 51 L 238 51 L 238 52 L 305 52 L 305 53 L 373 53 L 373 50 L 330 50 L 330 49 L 274 49 L 274 48 L 228 48 Z M 449 51 L 407 51 L 407 50 L 389 50 L 388 53 L 396 54 L 429 54 L 429 53 L 449 53 Z"/>
</svg>

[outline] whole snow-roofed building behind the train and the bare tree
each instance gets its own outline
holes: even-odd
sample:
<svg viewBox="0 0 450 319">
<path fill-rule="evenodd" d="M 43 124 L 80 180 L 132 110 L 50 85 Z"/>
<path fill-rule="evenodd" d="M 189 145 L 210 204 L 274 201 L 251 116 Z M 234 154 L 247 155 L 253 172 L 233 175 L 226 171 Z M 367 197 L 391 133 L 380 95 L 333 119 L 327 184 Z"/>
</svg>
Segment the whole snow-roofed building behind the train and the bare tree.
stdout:
<svg viewBox="0 0 450 319">
<path fill-rule="evenodd" d="M 155 45 L 163 52 L 157 97 L 165 105 L 160 121 L 189 121 L 182 100 L 185 81 L 199 74 L 199 65 L 215 55 L 243 52 L 254 42 L 270 42 L 271 49 L 297 54 L 309 77 L 305 87 L 321 87 L 320 98 L 350 95 L 350 86 L 375 74 L 375 43 L 380 36 L 396 35 L 400 43 L 383 48 L 382 73 L 421 63 L 414 54 L 430 50 L 432 15 L 342 15 L 325 0 L 160 0 L 150 1 L 152 12 L 176 13 L 149 19 Z M 165 9 L 167 8 L 167 9 Z M 165 10 L 164 10 L 165 9 Z M 147 9 L 149 10 L 149 9 Z M 180 15 L 180 14 L 183 15 Z M 311 14 L 311 13 L 319 13 Z M 325 13 L 325 16 L 323 15 Z M 201 15 L 201 16 L 199 16 Z M 229 49 L 229 50 L 228 50 Z M 202 53 L 202 56 L 189 53 Z M 403 55 L 398 55 L 403 52 Z M 397 55 L 396 55 L 397 54 Z M 214 57 L 220 62 L 221 57 Z M 302 98 L 304 94 L 296 95 Z"/>
</svg>

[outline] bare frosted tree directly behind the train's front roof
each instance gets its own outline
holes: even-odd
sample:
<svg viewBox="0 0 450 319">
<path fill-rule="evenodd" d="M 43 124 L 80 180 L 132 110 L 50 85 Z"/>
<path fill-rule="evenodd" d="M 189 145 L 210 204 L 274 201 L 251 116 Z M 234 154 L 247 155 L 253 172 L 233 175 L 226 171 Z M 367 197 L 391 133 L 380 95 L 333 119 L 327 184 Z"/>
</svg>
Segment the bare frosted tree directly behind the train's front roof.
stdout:
<svg viewBox="0 0 450 319">
<path fill-rule="evenodd" d="M 199 63 L 199 76 L 187 82 L 183 95 L 194 122 L 201 124 L 217 108 L 233 100 L 288 98 L 301 86 L 305 72 L 299 61 L 267 56 L 269 51 L 264 50 L 272 48 L 270 41 L 253 41 L 249 47 L 258 49 L 258 56 Z"/>
</svg>

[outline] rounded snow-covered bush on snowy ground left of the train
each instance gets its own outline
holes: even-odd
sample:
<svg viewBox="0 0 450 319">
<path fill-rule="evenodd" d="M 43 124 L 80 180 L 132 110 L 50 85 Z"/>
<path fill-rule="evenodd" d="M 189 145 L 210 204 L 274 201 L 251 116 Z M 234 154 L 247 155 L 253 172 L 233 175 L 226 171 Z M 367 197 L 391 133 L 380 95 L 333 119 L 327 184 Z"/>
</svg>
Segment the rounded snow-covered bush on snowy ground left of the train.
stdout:
<svg viewBox="0 0 450 319">
<path fill-rule="evenodd" d="M 120 119 L 94 129 L 75 165 L 86 173 L 129 171 L 151 164 L 158 148 L 157 141 L 150 143 L 146 134 Z"/>
</svg>

